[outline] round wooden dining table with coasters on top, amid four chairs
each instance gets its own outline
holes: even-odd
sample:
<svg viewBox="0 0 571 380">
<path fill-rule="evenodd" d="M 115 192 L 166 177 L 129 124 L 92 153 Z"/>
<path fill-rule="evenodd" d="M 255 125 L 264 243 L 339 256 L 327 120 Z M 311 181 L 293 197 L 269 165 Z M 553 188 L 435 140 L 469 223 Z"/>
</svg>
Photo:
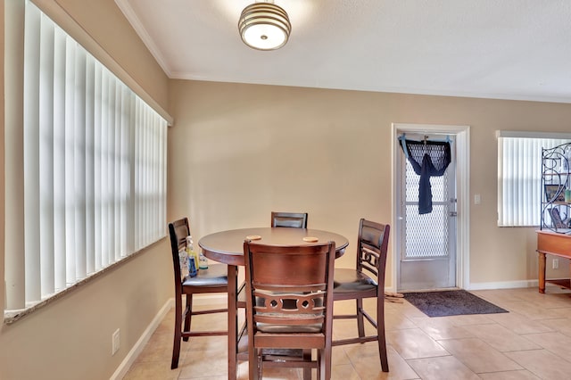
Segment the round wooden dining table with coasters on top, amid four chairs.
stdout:
<svg viewBox="0 0 571 380">
<path fill-rule="evenodd" d="M 198 241 L 204 256 L 228 264 L 228 379 L 236 379 L 238 354 L 237 277 L 244 266 L 244 241 L 269 245 L 309 245 L 335 242 L 335 257 L 341 257 L 349 241 L 343 235 L 319 229 L 259 227 L 220 231 Z M 247 357 L 246 357 L 247 358 Z"/>
</svg>

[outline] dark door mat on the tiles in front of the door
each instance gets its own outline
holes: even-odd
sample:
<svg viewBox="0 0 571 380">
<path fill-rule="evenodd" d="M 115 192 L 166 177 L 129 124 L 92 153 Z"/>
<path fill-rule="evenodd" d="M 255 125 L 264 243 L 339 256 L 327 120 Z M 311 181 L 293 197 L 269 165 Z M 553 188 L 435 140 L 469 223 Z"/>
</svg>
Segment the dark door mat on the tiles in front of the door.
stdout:
<svg viewBox="0 0 571 380">
<path fill-rule="evenodd" d="M 465 290 L 404 293 L 404 299 L 428 317 L 509 312 Z"/>
</svg>

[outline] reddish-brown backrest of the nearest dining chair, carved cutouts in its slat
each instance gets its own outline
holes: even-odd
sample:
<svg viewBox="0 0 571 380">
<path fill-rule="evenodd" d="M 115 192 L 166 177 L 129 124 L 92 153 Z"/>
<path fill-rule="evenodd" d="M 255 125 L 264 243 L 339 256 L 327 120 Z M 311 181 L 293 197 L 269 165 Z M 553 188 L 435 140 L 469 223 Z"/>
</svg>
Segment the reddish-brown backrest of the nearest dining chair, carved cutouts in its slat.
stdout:
<svg viewBox="0 0 571 380">
<path fill-rule="evenodd" d="M 321 333 L 333 320 L 335 242 L 273 246 L 244 242 L 248 328 Z M 255 306 L 254 306 L 255 305 Z M 304 328 L 305 327 L 305 328 Z"/>
</svg>

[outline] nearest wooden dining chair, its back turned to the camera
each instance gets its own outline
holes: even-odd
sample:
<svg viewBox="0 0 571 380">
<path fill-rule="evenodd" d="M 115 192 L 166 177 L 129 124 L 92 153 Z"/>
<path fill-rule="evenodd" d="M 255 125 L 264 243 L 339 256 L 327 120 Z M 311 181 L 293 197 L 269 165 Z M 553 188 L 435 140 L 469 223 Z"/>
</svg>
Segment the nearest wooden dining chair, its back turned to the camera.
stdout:
<svg viewBox="0 0 571 380">
<path fill-rule="evenodd" d="M 276 246 L 244 242 L 249 378 L 264 367 L 317 368 L 331 376 L 335 242 Z M 289 352 L 301 352 L 294 359 Z M 316 359 L 306 355 L 316 350 Z"/>
</svg>

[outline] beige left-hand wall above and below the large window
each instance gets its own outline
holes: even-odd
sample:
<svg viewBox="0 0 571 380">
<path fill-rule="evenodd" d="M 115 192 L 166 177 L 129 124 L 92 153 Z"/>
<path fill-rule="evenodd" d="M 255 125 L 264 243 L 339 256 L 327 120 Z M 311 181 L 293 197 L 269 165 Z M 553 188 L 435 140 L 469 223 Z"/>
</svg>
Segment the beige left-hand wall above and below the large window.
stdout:
<svg viewBox="0 0 571 380">
<path fill-rule="evenodd" d="M 62 9 L 58 11 L 54 1 L 38 3 L 49 7 L 53 17 L 62 16 L 58 16 L 57 12 Z M 97 38 L 98 45 L 113 54 L 133 80 L 161 107 L 168 109 L 166 76 L 122 18 L 113 0 L 61 1 L 60 4 L 69 12 L 62 16 L 65 22 L 69 24 L 70 18 L 79 21 L 79 29 Z M 3 43 L 0 54 L 4 62 L 4 1 L 0 20 Z M 71 29 L 78 29 L 77 25 Z M 4 89 L 4 70 L 1 72 L 0 84 Z M 6 93 L 10 95 L 10 89 L 6 89 Z M 0 114 L 3 116 L 0 118 L 0 161 L 4 163 L 4 102 Z M 4 164 L 0 167 L 3 168 L 0 199 L 4 201 Z M 4 247 L 4 218 L 4 202 L 1 202 L 1 247 Z M 4 279 L 4 248 L 0 250 L 0 278 Z M 109 378 L 172 297 L 172 289 L 170 244 L 162 239 L 137 257 L 46 307 L 12 325 L 0 325 L 0 379 Z M 4 281 L 0 281 L 0 304 L 4 305 Z M 117 328 L 120 328 L 120 351 L 112 356 L 112 333 Z"/>
</svg>

